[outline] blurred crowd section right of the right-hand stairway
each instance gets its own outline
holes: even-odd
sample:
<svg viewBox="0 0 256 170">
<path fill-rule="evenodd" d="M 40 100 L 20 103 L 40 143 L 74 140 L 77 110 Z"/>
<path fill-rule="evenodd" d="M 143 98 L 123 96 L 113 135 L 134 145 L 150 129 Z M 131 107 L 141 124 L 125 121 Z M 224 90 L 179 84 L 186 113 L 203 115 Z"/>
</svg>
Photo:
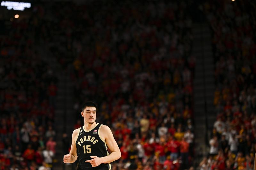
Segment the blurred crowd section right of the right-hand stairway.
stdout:
<svg viewBox="0 0 256 170">
<path fill-rule="evenodd" d="M 256 27 L 253 1 L 204 4 L 212 29 L 217 120 L 202 170 L 252 170 L 256 151 Z"/>
</svg>

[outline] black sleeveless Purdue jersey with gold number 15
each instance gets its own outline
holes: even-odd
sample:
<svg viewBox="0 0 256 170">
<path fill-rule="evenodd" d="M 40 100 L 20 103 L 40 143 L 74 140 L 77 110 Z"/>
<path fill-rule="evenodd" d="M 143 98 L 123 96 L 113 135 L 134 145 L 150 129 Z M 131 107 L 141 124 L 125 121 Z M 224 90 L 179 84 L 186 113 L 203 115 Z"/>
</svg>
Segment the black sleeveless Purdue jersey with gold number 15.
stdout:
<svg viewBox="0 0 256 170">
<path fill-rule="evenodd" d="M 86 160 L 92 159 L 90 156 L 104 157 L 108 156 L 108 148 L 100 138 L 99 128 L 102 125 L 97 123 L 94 128 L 86 131 L 84 126 L 79 129 L 79 135 L 76 140 L 76 154 L 78 159 L 77 170 L 97 169 L 109 170 L 111 169 L 110 163 L 100 164 L 99 166 L 92 167 Z"/>
</svg>

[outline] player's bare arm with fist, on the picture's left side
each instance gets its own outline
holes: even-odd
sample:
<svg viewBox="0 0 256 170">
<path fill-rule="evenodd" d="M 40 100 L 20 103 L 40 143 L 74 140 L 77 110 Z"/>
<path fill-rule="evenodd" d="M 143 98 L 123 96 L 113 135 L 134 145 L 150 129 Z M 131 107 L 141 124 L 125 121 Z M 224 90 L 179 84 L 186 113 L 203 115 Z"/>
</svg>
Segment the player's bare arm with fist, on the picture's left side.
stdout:
<svg viewBox="0 0 256 170">
<path fill-rule="evenodd" d="M 70 149 L 69 154 L 64 155 L 64 157 L 63 157 L 63 162 L 64 163 L 73 163 L 77 159 L 77 155 L 76 155 L 76 139 L 77 139 L 77 136 L 78 136 L 78 132 L 79 132 L 79 128 L 73 131 L 71 149 Z"/>
</svg>

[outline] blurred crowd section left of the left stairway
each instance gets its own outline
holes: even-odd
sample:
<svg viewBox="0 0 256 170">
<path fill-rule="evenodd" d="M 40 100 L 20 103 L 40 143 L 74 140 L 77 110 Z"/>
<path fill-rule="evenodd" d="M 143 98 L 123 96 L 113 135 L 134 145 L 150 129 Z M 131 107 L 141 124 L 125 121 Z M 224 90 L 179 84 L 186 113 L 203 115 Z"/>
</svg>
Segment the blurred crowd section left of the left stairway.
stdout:
<svg viewBox="0 0 256 170">
<path fill-rule="evenodd" d="M 31 20 L 7 22 L 4 27 L 8 29 L 0 35 L 0 169 L 49 170 L 56 152 L 57 78 L 41 59 Z"/>
</svg>

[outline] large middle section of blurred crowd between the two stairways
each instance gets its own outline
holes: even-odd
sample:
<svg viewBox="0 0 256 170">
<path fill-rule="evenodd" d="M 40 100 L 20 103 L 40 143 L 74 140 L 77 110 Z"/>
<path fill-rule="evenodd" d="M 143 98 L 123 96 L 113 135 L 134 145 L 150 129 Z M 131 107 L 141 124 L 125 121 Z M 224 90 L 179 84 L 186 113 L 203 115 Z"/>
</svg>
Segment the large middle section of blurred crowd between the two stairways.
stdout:
<svg viewBox="0 0 256 170">
<path fill-rule="evenodd" d="M 53 31 L 65 30 L 60 37 L 67 48 L 52 44 L 50 50 L 75 56 L 74 110 L 81 112 L 87 100 L 99 104 L 97 120 L 112 129 L 122 154 L 112 169 L 187 169 L 193 163 L 188 8 L 184 2 L 104 1 L 55 11 L 64 19 Z M 77 119 L 75 128 L 83 126 Z"/>
</svg>

